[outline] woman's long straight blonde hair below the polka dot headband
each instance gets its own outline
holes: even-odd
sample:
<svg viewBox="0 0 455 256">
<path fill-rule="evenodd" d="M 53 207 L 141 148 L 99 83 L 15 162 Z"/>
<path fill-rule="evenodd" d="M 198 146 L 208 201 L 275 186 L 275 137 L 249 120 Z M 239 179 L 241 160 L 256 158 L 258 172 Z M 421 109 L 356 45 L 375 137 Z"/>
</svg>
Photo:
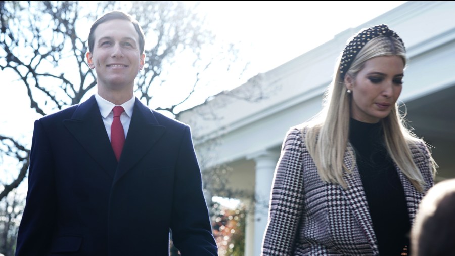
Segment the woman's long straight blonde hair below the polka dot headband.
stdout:
<svg viewBox="0 0 455 256">
<path fill-rule="evenodd" d="M 351 97 L 346 92 L 344 80 L 340 75 L 339 66 L 342 54 L 336 63 L 332 83 L 324 94 L 324 108 L 305 123 L 307 131 L 303 139 L 309 154 L 314 159 L 321 179 L 347 188 L 343 178 L 343 170 L 351 172 L 355 164 L 349 169 L 343 163 L 344 154 L 348 149 Z M 401 57 L 406 66 L 406 53 L 400 41 L 387 36 L 375 37 L 357 54 L 346 75 L 355 79 L 367 60 L 390 55 Z M 423 191 L 425 181 L 413 161 L 410 149 L 416 144 L 416 141 L 421 139 L 417 138 L 411 129 L 407 128 L 408 124 L 404 119 L 404 114 L 402 115 L 399 112 L 398 103 L 381 122 L 384 129 L 385 145 L 390 157 L 411 183 L 419 191 Z M 350 150 L 348 154 L 352 157 L 352 162 L 355 163 L 354 152 Z M 437 165 L 431 155 L 430 164 L 434 175 Z"/>
</svg>

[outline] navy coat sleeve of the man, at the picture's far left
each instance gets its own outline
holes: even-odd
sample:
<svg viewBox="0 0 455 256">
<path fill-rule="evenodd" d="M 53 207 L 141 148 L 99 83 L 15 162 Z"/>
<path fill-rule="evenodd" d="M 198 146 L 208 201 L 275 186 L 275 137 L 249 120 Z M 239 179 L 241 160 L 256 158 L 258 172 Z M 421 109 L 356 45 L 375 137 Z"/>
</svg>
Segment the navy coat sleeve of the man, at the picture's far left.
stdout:
<svg viewBox="0 0 455 256">
<path fill-rule="evenodd" d="M 47 254 L 55 226 L 55 212 L 51 145 L 41 122 L 36 120 L 30 150 L 27 198 L 19 226 L 16 256 Z"/>
</svg>

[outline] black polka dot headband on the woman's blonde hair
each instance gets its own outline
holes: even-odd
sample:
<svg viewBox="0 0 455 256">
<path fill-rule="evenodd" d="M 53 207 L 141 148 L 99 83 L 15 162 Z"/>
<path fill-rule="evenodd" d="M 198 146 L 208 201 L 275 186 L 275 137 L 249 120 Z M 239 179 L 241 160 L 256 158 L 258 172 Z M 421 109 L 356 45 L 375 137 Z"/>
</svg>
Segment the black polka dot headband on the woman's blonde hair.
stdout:
<svg viewBox="0 0 455 256">
<path fill-rule="evenodd" d="M 362 32 L 358 33 L 350 42 L 346 45 L 343 51 L 343 56 L 340 62 L 340 75 L 344 79 L 344 75 L 350 68 L 352 61 L 357 56 L 358 52 L 367 44 L 368 41 L 375 38 L 376 36 L 389 36 L 398 39 L 404 47 L 404 42 L 401 38 L 385 24 L 377 25 L 374 27 L 367 28 Z"/>
</svg>

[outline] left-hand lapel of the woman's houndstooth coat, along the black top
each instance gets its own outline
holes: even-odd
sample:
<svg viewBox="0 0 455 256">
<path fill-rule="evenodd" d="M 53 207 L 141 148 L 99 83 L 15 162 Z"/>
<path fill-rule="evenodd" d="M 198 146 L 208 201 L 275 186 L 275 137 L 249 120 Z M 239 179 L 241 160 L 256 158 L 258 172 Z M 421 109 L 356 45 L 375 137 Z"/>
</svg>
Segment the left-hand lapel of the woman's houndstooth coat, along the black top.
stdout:
<svg viewBox="0 0 455 256">
<path fill-rule="evenodd" d="M 349 169 L 352 168 L 352 157 L 351 153 L 354 152 L 351 144 L 348 143 L 347 150 L 344 154 L 344 164 Z M 373 229 L 373 221 L 370 216 L 370 210 L 368 208 L 367 195 L 365 190 L 363 190 L 362 181 L 360 178 L 360 173 L 358 172 L 358 167 L 355 165 L 352 172 L 347 173 L 344 171 L 345 180 L 348 188 L 344 190 L 346 197 L 348 198 L 350 208 L 360 224 L 363 233 L 367 237 L 368 243 L 374 251 L 375 255 L 379 255 L 379 250 L 376 242 L 376 235 Z"/>
</svg>

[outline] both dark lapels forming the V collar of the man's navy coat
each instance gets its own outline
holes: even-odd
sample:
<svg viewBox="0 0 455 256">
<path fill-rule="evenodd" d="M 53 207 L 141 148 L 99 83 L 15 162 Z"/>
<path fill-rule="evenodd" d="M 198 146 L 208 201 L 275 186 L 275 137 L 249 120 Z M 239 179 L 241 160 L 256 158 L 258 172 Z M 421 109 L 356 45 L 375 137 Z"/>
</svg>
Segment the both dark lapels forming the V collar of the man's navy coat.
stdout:
<svg viewBox="0 0 455 256">
<path fill-rule="evenodd" d="M 63 123 L 114 182 L 139 161 L 166 130 L 152 110 L 136 98 L 123 152 L 117 163 L 95 96 L 79 104 L 72 118 Z"/>
</svg>

